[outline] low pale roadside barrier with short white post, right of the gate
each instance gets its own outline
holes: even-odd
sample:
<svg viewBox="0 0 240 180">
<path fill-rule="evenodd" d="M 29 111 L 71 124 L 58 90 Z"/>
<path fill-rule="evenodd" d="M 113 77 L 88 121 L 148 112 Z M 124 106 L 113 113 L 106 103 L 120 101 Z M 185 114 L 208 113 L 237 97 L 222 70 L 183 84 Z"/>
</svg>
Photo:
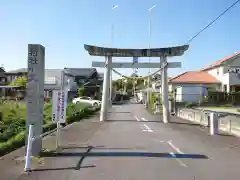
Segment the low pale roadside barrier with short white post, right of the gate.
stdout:
<svg viewBox="0 0 240 180">
<path fill-rule="evenodd" d="M 212 135 L 218 134 L 218 131 L 221 130 L 236 136 L 240 136 L 240 114 L 179 108 L 177 110 L 177 116 L 182 119 L 209 127 Z"/>
</svg>

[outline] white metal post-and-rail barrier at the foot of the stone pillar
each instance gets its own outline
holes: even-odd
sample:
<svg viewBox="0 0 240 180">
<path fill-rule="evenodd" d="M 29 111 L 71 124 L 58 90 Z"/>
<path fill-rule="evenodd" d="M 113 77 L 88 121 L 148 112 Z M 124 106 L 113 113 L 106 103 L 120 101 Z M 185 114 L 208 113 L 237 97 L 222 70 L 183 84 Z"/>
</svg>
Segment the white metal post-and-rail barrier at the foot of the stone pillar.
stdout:
<svg viewBox="0 0 240 180">
<path fill-rule="evenodd" d="M 31 124 L 29 125 L 28 128 L 28 140 L 27 140 L 27 151 L 26 151 L 26 156 L 25 156 L 25 167 L 24 171 L 30 171 L 31 170 L 31 156 L 32 156 L 32 144 L 35 140 L 41 139 L 45 137 L 46 135 L 52 134 L 53 132 L 56 132 L 56 149 L 59 148 L 60 146 L 60 130 L 61 130 L 61 125 L 60 123 L 57 123 L 57 128 L 53 129 L 49 132 L 43 133 L 40 136 L 33 137 L 33 132 L 34 132 L 34 125 Z"/>
</svg>

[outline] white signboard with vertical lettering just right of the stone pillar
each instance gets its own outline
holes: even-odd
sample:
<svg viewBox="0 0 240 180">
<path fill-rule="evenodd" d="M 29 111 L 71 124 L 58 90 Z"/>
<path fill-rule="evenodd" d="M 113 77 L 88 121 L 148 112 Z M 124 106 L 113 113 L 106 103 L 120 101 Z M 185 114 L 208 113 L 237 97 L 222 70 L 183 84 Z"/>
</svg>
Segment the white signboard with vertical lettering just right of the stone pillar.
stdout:
<svg viewBox="0 0 240 180">
<path fill-rule="evenodd" d="M 66 122 L 67 91 L 54 90 L 52 97 L 52 121 L 53 123 Z"/>
</svg>

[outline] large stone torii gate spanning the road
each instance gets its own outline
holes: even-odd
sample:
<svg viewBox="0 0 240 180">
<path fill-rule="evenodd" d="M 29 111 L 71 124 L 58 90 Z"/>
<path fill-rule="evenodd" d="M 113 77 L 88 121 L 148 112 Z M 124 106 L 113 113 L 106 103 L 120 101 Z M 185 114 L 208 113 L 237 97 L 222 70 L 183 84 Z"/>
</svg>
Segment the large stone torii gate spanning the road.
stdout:
<svg viewBox="0 0 240 180">
<path fill-rule="evenodd" d="M 100 113 L 100 121 L 107 118 L 110 95 L 110 72 L 112 68 L 161 68 L 161 89 L 162 89 L 162 104 L 163 104 L 163 122 L 169 120 L 169 103 L 168 103 L 168 76 L 167 68 L 181 67 L 180 62 L 167 63 L 167 57 L 181 56 L 189 48 L 189 45 L 167 47 L 167 48 L 152 48 L 152 49 L 119 49 L 105 48 L 92 45 L 84 45 L 84 48 L 91 56 L 105 56 L 105 62 L 92 62 L 93 67 L 104 67 L 104 81 L 102 106 Z M 112 57 L 159 57 L 159 63 L 112 63 Z"/>
</svg>

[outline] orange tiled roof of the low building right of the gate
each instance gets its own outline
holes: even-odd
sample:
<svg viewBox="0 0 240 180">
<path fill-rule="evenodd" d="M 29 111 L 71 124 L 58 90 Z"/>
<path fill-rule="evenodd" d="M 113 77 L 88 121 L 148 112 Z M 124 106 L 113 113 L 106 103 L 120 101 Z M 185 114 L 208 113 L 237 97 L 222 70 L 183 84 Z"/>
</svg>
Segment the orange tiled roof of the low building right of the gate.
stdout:
<svg viewBox="0 0 240 180">
<path fill-rule="evenodd" d="M 215 77 L 205 71 L 188 71 L 170 80 L 171 83 L 215 84 L 220 83 Z"/>
</svg>

